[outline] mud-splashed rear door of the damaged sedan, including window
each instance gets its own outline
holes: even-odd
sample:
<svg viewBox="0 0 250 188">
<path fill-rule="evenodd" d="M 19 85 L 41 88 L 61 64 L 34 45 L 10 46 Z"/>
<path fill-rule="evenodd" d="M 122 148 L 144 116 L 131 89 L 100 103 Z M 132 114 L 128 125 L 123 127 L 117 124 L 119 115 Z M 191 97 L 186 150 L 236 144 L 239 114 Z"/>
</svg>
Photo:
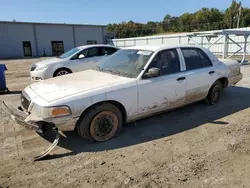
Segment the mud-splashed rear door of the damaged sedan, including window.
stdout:
<svg viewBox="0 0 250 188">
<path fill-rule="evenodd" d="M 199 48 L 181 48 L 186 65 L 187 93 L 185 103 L 204 99 L 216 81 L 216 70 L 207 54 Z"/>
</svg>

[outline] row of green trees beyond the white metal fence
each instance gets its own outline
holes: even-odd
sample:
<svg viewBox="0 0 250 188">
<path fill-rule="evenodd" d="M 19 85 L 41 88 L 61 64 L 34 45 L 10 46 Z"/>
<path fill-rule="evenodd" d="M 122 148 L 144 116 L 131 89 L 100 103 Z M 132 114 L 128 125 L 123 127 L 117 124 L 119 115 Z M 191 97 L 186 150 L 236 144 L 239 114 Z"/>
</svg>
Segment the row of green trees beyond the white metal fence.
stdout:
<svg viewBox="0 0 250 188">
<path fill-rule="evenodd" d="M 232 1 L 226 11 L 217 8 L 202 8 L 194 13 L 184 13 L 179 17 L 166 14 L 160 22 L 149 21 L 146 24 L 132 20 L 119 24 L 109 24 L 107 30 L 114 32 L 116 38 L 148 36 L 165 32 L 191 32 L 236 28 L 240 15 L 240 27 L 250 26 L 250 9 L 241 8 L 241 2 Z M 241 10 L 241 11 L 240 11 Z"/>
</svg>

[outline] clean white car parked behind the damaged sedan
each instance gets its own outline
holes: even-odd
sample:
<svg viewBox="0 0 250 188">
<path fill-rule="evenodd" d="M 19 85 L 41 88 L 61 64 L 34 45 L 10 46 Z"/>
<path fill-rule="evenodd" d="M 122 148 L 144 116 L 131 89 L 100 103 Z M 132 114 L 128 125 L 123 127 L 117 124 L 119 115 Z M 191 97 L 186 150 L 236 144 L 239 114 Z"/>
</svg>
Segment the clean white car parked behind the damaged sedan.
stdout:
<svg viewBox="0 0 250 188">
<path fill-rule="evenodd" d="M 40 81 L 91 69 L 117 50 L 119 48 L 105 44 L 79 46 L 59 57 L 32 64 L 30 76 L 32 80 Z"/>
</svg>

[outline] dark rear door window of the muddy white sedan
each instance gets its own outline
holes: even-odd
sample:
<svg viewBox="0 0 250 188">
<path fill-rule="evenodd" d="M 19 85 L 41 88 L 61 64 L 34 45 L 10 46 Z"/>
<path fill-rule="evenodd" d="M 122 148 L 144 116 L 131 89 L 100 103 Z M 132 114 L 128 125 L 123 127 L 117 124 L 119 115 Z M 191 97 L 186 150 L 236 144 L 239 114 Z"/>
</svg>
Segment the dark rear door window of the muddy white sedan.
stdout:
<svg viewBox="0 0 250 188">
<path fill-rule="evenodd" d="M 187 70 L 195 70 L 212 66 L 210 59 L 202 50 L 198 48 L 183 48 L 181 50 L 185 59 Z"/>
</svg>

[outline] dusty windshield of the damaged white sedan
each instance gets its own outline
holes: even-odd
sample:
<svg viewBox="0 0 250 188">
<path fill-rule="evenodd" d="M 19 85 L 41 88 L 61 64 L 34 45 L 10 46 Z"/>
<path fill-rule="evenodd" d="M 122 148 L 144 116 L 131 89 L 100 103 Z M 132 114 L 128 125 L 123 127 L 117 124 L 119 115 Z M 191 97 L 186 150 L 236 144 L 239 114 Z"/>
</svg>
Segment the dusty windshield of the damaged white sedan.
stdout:
<svg viewBox="0 0 250 188">
<path fill-rule="evenodd" d="M 99 71 L 136 78 L 152 54 L 152 51 L 146 50 L 119 50 L 101 63 L 98 69 Z"/>
</svg>

